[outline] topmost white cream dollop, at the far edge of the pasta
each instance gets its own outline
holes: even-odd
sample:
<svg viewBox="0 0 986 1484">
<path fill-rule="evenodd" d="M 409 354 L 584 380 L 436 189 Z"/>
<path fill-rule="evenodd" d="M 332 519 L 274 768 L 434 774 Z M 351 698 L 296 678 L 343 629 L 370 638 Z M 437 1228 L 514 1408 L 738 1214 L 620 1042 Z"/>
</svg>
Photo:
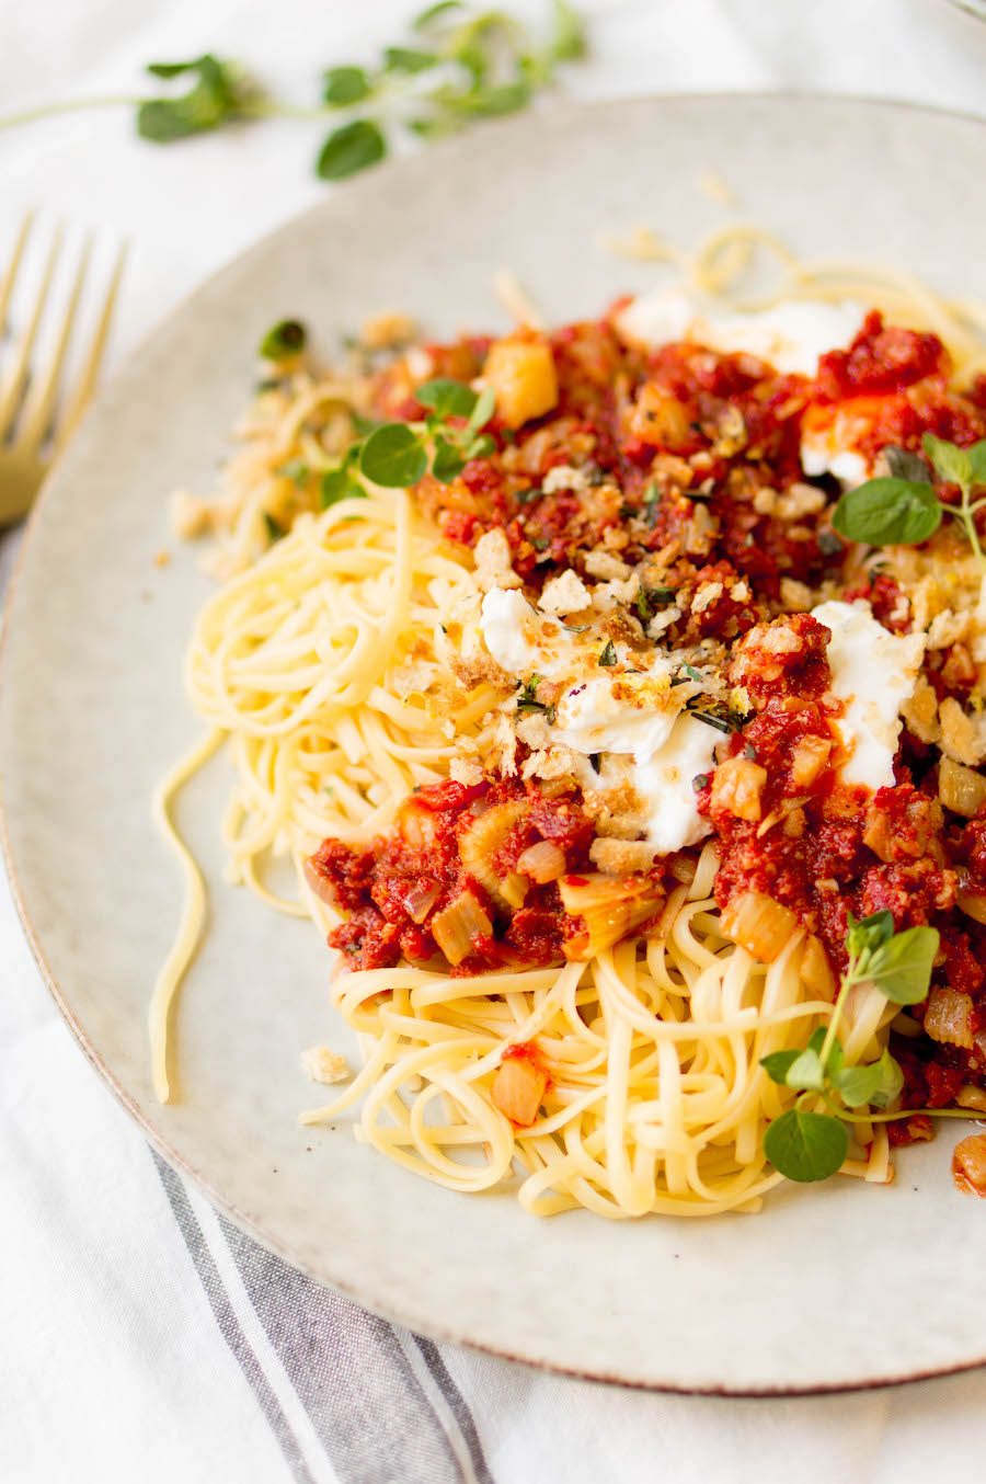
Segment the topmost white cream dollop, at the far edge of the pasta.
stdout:
<svg viewBox="0 0 986 1484">
<path fill-rule="evenodd" d="M 746 352 L 783 372 L 814 375 L 818 356 L 854 338 L 863 310 L 845 300 L 784 300 L 756 312 L 727 312 L 670 288 L 632 300 L 615 322 L 627 340 L 642 344 L 691 340 L 727 355 Z"/>
</svg>

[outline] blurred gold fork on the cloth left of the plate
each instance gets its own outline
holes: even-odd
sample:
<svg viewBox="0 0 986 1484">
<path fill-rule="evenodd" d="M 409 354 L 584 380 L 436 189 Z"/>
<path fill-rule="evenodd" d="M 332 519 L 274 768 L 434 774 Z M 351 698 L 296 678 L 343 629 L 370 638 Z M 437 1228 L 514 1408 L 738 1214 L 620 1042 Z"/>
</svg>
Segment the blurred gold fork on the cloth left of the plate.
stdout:
<svg viewBox="0 0 986 1484">
<path fill-rule="evenodd" d="M 21 223 L 7 270 L 0 279 L 0 337 L 9 325 L 7 310 L 33 224 L 34 214 L 28 212 Z M 123 273 L 126 246 L 120 248 L 116 257 L 110 285 L 80 370 L 73 386 L 59 399 L 65 353 L 89 272 L 92 240 L 92 233 L 89 233 L 71 280 L 68 300 L 61 312 L 61 324 L 52 319 L 55 334 L 46 364 L 31 365 L 31 352 L 46 304 L 50 304 L 52 280 L 62 252 L 64 227 L 55 230 L 34 303 L 13 343 L 9 371 L 0 380 L 0 525 L 19 519 L 31 508 L 49 464 L 61 453 L 85 411 L 99 374 L 113 306 Z M 49 316 L 53 313 L 55 310 L 49 307 Z"/>
</svg>

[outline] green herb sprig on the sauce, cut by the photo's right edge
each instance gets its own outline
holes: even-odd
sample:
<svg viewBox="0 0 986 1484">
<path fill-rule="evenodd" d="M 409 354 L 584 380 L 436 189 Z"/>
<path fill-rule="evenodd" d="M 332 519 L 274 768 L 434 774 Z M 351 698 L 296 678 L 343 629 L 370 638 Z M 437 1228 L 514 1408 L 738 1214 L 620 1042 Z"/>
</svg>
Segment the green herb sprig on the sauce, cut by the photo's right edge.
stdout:
<svg viewBox="0 0 986 1484">
<path fill-rule="evenodd" d="M 925 433 L 922 447 L 937 478 L 959 487 L 959 505 L 939 500 L 924 459 L 890 445 L 884 450 L 890 476 L 867 479 L 844 494 L 832 515 L 832 525 L 848 540 L 866 542 L 867 546 L 916 546 L 934 534 L 942 516 L 952 515 L 965 527 L 973 552 L 986 567 L 976 527 L 986 496 L 973 500 L 973 490 L 986 485 L 986 438 L 971 448 L 958 448 L 934 433 Z"/>
</svg>

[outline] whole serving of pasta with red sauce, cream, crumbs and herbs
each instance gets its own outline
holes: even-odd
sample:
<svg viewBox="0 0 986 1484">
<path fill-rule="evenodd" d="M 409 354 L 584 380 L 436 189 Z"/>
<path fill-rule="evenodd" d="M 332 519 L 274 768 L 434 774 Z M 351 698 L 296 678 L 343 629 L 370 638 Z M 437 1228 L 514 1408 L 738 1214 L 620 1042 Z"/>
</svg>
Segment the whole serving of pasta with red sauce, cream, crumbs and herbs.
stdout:
<svg viewBox="0 0 986 1484">
<path fill-rule="evenodd" d="M 221 582 L 159 812 L 224 745 L 231 879 L 335 950 L 362 1066 L 314 1048 L 305 1122 L 537 1214 L 888 1183 L 986 1112 L 982 316 L 789 258 L 737 307 L 749 236 L 557 329 L 386 316 L 332 372 L 282 324 L 176 497 Z"/>
</svg>

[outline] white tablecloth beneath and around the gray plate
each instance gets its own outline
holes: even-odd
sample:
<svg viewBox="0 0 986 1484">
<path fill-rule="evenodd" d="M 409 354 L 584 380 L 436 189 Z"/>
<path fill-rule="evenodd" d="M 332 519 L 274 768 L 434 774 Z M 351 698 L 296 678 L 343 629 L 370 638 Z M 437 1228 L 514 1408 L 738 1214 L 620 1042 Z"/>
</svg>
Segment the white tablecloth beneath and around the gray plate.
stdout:
<svg viewBox="0 0 986 1484">
<path fill-rule="evenodd" d="M 514 0 L 532 16 L 538 0 Z M 236 55 L 310 96 L 405 0 L 0 3 L 0 111 Z M 568 91 L 818 89 L 986 113 L 986 25 L 944 0 L 584 0 Z M 0 132 L 0 257 L 25 206 L 126 236 L 114 358 L 319 199 L 319 126 L 173 150 L 120 113 Z M 344 186 L 340 188 L 345 188 Z M 943 230 L 977 229 L 977 202 Z M 15 542 L 0 545 L 0 583 Z M 0 1480 L 916 1484 L 979 1478 L 986 1374 L 793 1401 L 657 1396 L 433 1346 L 314 1288 L 150 1153 L 61 1024 L 0 884 Z M 823 1318 L 820 1316 L 820 1322 Z"/>
</svg>

